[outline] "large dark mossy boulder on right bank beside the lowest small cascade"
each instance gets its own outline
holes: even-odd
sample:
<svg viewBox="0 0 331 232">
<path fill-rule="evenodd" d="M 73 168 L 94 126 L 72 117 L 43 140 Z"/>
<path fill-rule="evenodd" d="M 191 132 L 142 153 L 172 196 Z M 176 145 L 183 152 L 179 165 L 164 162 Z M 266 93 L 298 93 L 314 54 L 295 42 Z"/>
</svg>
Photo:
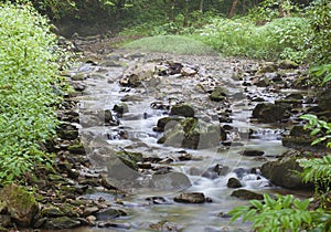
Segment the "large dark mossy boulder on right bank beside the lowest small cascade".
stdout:
<svg viewBox="0 0 331 232">
<path fill-rule="evenodd" d="M 300 173 L 303 171 L 296 158 L 284 158 L 268 161 L 261 166 L 261 175 L 274 184 L 287 189 L 310 189 L 310 184 L 302 182 Z"/>
</svg>

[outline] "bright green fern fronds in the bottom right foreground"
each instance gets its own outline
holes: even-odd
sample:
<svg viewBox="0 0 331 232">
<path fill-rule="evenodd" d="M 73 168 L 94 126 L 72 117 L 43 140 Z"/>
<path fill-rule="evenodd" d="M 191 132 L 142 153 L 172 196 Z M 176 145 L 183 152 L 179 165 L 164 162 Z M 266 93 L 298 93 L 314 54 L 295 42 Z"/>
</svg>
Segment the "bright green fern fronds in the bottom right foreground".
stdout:
<svg viewBox="0 0 331 232">
<path fill-rule="evenodd" d="M 243 205 L 233 209 L 232 222 L 243 217 L 243 221 L 252 221 L 253 228 L 259 232 L 301 231 L 312 226 L 312 214 L 309 212 L 309 200 L 300 201 L 293 196 L 277 194 L 274 200 L 264 194 L 263 202 L 249 201 L 252 205 Z"/>
</svg>

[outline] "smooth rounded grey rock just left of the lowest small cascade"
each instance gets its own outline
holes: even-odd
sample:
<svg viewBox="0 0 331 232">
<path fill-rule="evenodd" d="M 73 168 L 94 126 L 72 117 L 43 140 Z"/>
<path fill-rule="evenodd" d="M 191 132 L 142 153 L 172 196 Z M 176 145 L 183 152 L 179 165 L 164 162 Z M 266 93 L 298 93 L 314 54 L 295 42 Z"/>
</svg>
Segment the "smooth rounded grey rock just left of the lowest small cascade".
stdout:
<svg viewBox="0 0 331 232">
<path fill-rule="evenodd" d="M 191 186 L 190 179 L 181 172 L 168 172 L 164 175 L 153 175 L 150 187 L 158 190 L 182 190 Z"/>
</svg>

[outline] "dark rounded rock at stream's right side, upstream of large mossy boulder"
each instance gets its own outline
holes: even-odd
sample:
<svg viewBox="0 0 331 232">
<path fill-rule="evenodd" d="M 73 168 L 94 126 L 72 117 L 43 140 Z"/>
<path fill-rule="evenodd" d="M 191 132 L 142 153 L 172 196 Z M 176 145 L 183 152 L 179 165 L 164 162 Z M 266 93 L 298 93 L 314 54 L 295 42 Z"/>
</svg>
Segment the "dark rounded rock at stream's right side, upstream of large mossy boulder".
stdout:
<svg viewBox="0 0 331 232">
<path fill-rule="evenodd" d="M 286 117 L 286 109 L 271 103 L 259 103 L 253 109 L 253 117 L 263 123 L 276 123 Z"/>
</svg>

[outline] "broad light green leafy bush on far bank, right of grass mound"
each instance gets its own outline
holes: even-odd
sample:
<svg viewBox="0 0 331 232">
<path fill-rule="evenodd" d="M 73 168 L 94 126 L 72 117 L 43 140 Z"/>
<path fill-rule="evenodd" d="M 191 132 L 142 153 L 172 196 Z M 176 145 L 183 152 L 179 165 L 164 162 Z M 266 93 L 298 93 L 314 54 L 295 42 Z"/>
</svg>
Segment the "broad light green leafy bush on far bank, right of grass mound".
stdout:
<svg viewBox="0 0 331 232">
<path fill-rule="evenodd" d="M 309 27 L 302 18 L 276 19 L 263 27 L 248 19 L 214 19 L 201 40 L 225 55 L 302 62 Z"/>
</svg>

